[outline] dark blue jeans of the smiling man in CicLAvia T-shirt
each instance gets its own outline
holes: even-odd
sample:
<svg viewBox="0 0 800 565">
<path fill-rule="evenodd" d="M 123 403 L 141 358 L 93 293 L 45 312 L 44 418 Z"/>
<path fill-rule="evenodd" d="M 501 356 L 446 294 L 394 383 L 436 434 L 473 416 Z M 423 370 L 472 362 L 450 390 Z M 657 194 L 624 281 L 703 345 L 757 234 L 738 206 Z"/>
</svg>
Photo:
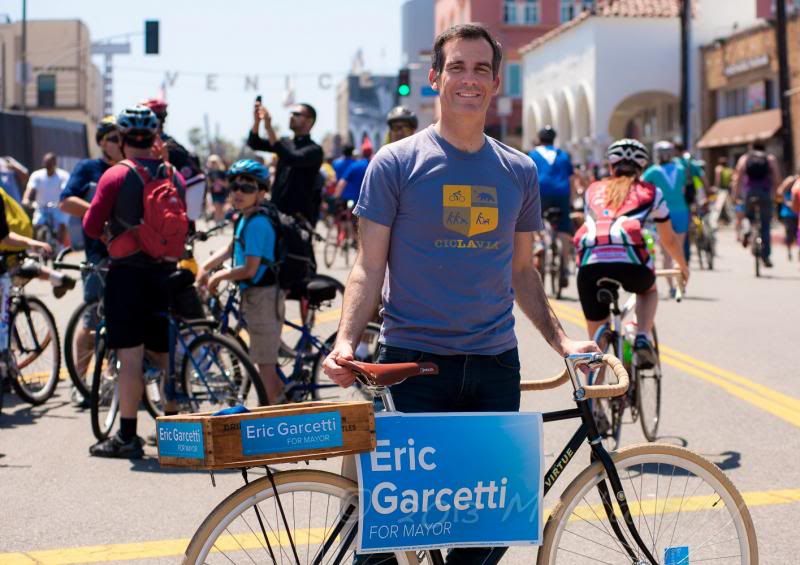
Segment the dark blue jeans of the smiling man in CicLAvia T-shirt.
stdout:
<svg viewBox="0 0 800 565">
<path fill-rule="evenodd" d="M 379 363 L 432 362 L 438 375 L 413 377 L 391 387 L 399 412 L 518 412 L 520 364 L 517 348 L 498 355 L 434 355 L 381 346 Z M 505 547 L 450 550 L 448 565 L 494 565 Z M 394 564 L 389 554 L 357 555 L 358 565 Z"/>
</svg>

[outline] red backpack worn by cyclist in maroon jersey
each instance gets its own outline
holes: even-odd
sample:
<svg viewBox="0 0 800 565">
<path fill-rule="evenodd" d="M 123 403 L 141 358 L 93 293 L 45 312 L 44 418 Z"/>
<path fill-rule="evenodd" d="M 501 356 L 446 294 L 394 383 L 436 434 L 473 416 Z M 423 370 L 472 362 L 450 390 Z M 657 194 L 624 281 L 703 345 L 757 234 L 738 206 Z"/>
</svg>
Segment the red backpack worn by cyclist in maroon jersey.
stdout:
<svg viewBox="0 0 800 565">
<path fill-rule="evenodd" d="M 184 253 L 189 217 L 173 180 L 172 165 L 162 164 L 151 177 L 147 167 L 135 161 L 126 159 L 120 164 L 142 181 L 142 219 L 135 226 L 117 219 L 126 231 L 109 242 L 109 254 L 121 258 L 141 251 L 153 259 L 179 260 Z"/>
</svg>

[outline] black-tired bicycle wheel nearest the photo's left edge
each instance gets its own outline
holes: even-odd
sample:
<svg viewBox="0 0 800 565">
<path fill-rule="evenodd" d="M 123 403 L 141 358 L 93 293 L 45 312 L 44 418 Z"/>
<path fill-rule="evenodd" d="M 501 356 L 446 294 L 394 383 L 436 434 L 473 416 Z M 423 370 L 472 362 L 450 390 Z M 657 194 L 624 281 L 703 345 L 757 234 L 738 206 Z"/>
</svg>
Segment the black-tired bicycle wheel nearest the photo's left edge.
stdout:
<svg viewBox="0 0 800 565">
<path fill-rule="evenodd" d="M 16 364 L 11 383 L 23 400 L 42 404 L 53 396 L 61 370 L 55 318 L 44 302 L 23 295 L 12 306 L 9 327 Z"/>
</svg>

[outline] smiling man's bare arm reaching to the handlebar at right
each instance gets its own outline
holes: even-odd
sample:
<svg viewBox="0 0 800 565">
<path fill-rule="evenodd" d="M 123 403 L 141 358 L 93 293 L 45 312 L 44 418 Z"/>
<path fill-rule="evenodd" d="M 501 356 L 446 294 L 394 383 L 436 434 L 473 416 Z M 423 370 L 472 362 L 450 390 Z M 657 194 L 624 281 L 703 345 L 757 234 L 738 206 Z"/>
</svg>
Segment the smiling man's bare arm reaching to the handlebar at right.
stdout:
<svg viewBox="0 0 800 565">
<path fill-rule="evenodd" d="M 511 284 L 517 304 L 525 316 L 533 322 L 556 353 L 565 357 L 573 353 L 600 352 L 593 341 L 573 341 L 564 332 L 547 295 L 542 279 L 533 267 L 533 233 L 514 234 L 514 256 L 511 264 Z"/>
</svg>

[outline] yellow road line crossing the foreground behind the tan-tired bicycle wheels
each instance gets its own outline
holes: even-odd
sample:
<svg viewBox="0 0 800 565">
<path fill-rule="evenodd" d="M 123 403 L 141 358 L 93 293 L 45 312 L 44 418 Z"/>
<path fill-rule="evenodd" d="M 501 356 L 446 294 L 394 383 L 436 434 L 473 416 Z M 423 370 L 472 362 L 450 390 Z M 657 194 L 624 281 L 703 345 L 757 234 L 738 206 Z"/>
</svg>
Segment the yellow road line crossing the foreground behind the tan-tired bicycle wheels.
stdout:
<svg viewBox="0 0 800 565">
<path fill-rule="evenodd" d="M 775 506 L 779 504 L 793 504 L 800 502 L 800 489 L 770 490 L 742 493 L 747 507 L 751 510 L 759 506 Z M 652 515 L 655 512 L 671 513 L 677 510 L 681 512 L 696 512 L 706 510 L 708 497 L 697 496 L 684 499 L 681 504 L 679 498 L 668 498 L 649 500 L 642 504 L 641 508 L 637 504 L 632 505 L 634 515 Z M 592 513 L 588 506 L 576 508 L 576 512 L 586 520 L 596 520 L 596 515 L 600 512 Z M 547 517 L 550 510 L 544 511 Z M 311 528 L 295 532 L 295 543 L 302 545 L 304 537 L 318 543 L 323 532 L 320 528 Z M 305 532 L 305 533 L 303 533 Z M 236 536 L 234 539 L 230 535 L 221 537 L 217 542 L 217 547 L 223 550 L 235 551 L 239 547 L 245 549 L 258 549 L 263 547 L 263 537 L 246 533 Z M 270 535 L 270 542 L 274 546 L 288 546 L 289 541 L 286 536 L 276 539 Z M 188 539 L 169 539 L 159 541 L 143 541 L 136 543 L 120 543 L 108 545 L 94 545 L 84 547 L 72 547 L 65 549 L 48 549 L 16 553 L 0 553 L 0 565 L 72 565 L 76 563 L 104 563 L 109 561 L 128 561 L 134 559 L 157 559 L 161 557 L 176 557 L 183 555 L 189 545 Z"/>
</svg>

